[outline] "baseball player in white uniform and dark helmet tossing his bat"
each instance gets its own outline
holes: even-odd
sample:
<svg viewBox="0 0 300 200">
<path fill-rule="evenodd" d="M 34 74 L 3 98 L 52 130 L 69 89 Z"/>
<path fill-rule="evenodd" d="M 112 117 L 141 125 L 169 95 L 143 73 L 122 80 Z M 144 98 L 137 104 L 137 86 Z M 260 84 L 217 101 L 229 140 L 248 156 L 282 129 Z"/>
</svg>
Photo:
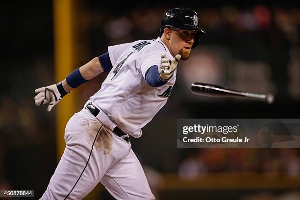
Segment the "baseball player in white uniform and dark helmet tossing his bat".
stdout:
<svg viewBox="0 0 300 200">
<path fill-rule="evenodd" d="M 75 113 L 65 129 L 66 148 L 41 199 L 78 200 L 99 182 L 117 200 L 154 200 L 130 137 L 165 105 L 176 79 L 178 61 L 199 43 L 196 12 L 168 11 L 160 37 L 108 47 L 58 84 L 35 90 L 35 104 L 55 104 L 82 83 L 109 72 L 100 90 Z"/>
</svg>

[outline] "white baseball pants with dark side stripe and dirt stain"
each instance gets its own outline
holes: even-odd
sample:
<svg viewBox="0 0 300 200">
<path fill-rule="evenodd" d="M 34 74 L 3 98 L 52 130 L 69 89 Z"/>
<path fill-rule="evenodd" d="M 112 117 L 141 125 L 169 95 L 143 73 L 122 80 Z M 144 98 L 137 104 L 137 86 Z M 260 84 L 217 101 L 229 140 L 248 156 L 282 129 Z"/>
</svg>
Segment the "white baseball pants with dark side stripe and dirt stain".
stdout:
<svg viewBox="0 0 300 200">
<path fill-rule="evenodd" d="M 81 200 L 100 182 L 117 200 L 154 200 L 126 142 L 85 109 L 65 129 L 66 148 L 41 200 Z"/>
</svg>

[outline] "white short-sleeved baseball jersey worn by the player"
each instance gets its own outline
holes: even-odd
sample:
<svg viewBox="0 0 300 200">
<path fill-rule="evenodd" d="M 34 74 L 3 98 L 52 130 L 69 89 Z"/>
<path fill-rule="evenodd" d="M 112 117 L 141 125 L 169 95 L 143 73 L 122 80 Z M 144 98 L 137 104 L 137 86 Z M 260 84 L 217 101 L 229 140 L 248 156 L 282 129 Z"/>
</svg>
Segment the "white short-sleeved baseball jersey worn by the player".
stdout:
<svg viewBox="0 0 300 200">
<path fill-rule="evenodd" d="M 147 70 L 159 65 L 163 52 L 173 59 L 160 38 L 108 47 L 113 68 L 101 89 L 90 97 L 94 105 L 133 137 L 142 135 L 141 128 L 165 105 L 175 84 L 176 70 L 168 82 L 159 87 L 152 87 L 145 80 Z"/>
</svg>

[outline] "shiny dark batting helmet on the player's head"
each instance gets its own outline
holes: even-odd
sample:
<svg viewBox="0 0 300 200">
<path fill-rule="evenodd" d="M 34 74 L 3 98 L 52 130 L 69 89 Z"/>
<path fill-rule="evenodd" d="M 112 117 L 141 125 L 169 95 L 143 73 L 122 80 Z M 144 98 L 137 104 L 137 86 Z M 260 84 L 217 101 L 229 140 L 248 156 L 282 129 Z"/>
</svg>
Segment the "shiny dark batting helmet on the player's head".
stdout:
<svg viewBox="0 0 300 200">
<path fill-rule="evenodd" d="M 196 35 L 192 49 L 199 44 L 200 35 L 206 35 L 206 33 L 199 27 L 199 18 L 194 10 L 189 8 L 174 8 L 166 12 L 160 26 L 160 37 L 164 32 L 166 26 L 179 28 L 182 30 L 194 30 Z"/>
</svg>

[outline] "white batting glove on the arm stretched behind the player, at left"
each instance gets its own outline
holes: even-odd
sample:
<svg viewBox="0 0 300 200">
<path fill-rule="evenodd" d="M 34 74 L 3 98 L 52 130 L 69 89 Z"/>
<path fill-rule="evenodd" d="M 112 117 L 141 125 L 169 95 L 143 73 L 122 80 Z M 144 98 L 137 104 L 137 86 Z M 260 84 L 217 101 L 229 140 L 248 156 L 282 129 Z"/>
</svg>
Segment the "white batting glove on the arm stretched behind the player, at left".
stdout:
<svg viewBox="0 0 300 200">
<path fill-rule="evenodd" d="M 34 97 L 35 104 L 36 105 L 43 105 L 48 104 L 48 112 L 51 111 L 54 105 L 56 105 L 66 94 L 70 93 L 65 91 L 65 89 L 62 87 L 61 82 L 47 87 L 41 87 L 36 89 L 34 92 L 39 93 Z M 58 89 L 62 88 L 62 89 Z"/>
</svg>

